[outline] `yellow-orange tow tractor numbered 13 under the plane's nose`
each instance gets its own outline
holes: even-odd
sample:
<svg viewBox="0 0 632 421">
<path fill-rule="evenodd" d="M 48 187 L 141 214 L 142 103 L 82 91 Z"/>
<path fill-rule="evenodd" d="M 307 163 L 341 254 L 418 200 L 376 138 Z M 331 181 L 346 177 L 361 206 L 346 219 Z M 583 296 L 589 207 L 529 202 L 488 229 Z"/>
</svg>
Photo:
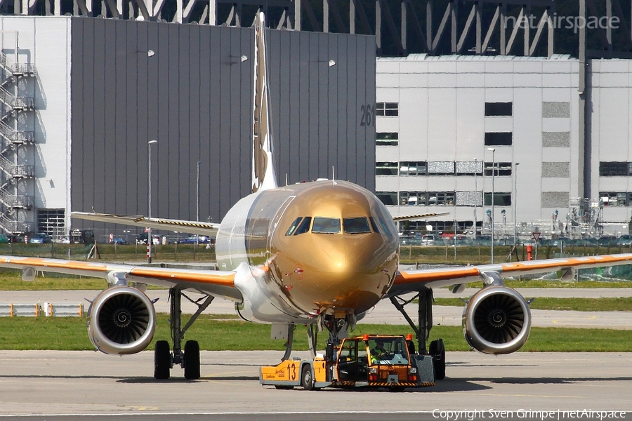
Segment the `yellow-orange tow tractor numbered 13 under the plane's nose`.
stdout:
<svg viewBox="0 0 632 421">
<path fill-rule="evenodd" d="M 302 386 L 305 390 L 435 385 L 433 356 L 415 354 L 411 335 L 345 338 L 331 354 L 331 359 L 317 354 L 311 361 L 289 359 L 278 366 L 261 367 L 259 381 L 277 389 Z"/>
</svg>

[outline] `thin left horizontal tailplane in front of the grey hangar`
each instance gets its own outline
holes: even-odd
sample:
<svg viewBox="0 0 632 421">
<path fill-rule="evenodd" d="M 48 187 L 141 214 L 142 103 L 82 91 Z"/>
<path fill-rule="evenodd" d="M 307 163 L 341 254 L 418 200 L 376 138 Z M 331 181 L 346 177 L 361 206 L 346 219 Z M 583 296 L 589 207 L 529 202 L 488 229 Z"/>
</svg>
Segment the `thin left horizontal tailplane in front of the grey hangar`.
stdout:
<svg viewBox="0 0 632 421">
<path fill-rule="evenodd" d="M 211 222 L 197 222 L 187 220 L 171 220 L 165 218 L 145 218 L 143 215 L 109 215 L 107 213 L 72 212 L 72 218 L 91 220 L 98 222 L 110 222 L 112 224 L 133 225 L 135 227 L 150 227 L 155 229 L 171 229 L 171 231 L 188 232 L 217 236 L 219 224 Z"/>
</svg>

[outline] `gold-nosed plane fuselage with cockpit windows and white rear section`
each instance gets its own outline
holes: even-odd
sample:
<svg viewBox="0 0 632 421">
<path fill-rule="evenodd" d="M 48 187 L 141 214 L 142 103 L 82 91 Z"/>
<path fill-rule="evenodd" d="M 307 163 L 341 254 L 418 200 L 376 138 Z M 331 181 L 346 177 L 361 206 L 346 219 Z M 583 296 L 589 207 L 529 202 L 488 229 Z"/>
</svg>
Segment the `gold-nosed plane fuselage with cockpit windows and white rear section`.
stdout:
<svg viewBox="0 0 632 421">
<path fill-rule="evenodd" d="M 398 248 L 383 203 L 367 189 L 331 180 L 247 196 L 226 215 L 216 242 L 220 269 L 243 262 L 263 269 L 275 307 L 303 318 L 376 305 L 397 274 Z"/>
</svg>

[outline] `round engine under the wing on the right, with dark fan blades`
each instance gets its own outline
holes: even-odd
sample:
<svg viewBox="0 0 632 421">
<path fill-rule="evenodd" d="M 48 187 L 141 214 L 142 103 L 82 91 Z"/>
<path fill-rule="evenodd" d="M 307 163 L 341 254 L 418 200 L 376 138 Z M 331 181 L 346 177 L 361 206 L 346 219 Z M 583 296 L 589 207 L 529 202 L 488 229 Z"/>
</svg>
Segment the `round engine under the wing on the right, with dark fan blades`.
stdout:
<svg viewBox="0 0 632 421">
<path fill-rule="evenodd" d="M 470 347 L 485 354 L 518 351 L 530 330 L 529 303 L 506 286 L 483 288 L 463 309 L 463 334 Z"/>
</svg>

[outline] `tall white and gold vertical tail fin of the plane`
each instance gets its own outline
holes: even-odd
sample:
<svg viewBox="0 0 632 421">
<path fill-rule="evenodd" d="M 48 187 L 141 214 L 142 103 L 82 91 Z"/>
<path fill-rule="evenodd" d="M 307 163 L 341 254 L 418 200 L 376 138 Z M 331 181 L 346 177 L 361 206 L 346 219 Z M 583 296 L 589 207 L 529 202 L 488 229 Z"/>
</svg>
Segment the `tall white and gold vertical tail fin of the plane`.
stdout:
<svg viewBox="0 0 632 421">
<path fill-rule="evenodd" d="M 277 186 L 272 159 L 272 125 L 270 123 L 270 98 L 268 68 L 265 54 L 265 18 L 262 12 L 255 16 L 254 53 L 254 107 L 252 126 L 252 192 L 274 189 Z"/>
</svg>

